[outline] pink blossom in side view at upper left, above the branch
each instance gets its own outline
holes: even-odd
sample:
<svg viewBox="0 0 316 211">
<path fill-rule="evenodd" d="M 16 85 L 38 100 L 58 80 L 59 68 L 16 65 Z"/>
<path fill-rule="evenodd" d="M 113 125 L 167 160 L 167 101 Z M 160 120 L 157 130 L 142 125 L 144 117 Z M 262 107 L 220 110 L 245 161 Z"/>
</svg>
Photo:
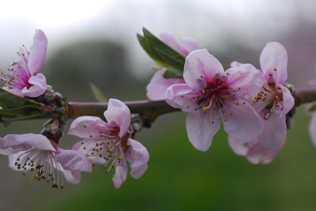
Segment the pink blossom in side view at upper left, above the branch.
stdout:
<svg viewBox="0 0 316 211">
<path fill-rule="evenodd" d="M 41 30 L 35 30 L 33 45 L 28 51 L 20 48 L 19 60 L 12 62 L 8 70 L 0 68 L 3 87 L 21 97 L 38 97 L 47 89 L 46 79 L 40 74 L 47 47 L 47 38 Z"/>
</svg>

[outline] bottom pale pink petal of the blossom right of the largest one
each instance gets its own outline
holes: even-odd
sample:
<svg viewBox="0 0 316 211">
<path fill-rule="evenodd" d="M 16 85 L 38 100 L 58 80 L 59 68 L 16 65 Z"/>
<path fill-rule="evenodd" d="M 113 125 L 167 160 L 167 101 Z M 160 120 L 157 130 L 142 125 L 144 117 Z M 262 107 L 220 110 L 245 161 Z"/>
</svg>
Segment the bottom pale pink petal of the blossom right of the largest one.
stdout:
<svg viewBox="0 0 316 211">
<path fill-rule="evenodd" d="M 286 139 L 285 116 L 279 117 L 275 112 L 271 112 L 268 120 L 264 121 L 264 131 L 258 136 L 262 146 L 268 150 L 280 150 Z"/>
</svg>

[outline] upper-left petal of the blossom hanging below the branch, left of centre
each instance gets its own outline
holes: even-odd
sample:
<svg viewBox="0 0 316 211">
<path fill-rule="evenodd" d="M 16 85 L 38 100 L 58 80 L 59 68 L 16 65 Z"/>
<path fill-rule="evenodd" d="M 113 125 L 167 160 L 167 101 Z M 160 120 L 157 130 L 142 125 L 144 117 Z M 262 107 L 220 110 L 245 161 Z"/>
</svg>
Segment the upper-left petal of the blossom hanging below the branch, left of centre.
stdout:
<svg viewBox="0 0 316 211">
<path fill-rule="evenodd" d="M 70 125 L 68 134 L 76 135 L 81 138 L 90 137 L 93 133 L 109 133 L 107 132 L 106 122 L 95 116 L 80 116 L 76 118 Z"/>
</svg>

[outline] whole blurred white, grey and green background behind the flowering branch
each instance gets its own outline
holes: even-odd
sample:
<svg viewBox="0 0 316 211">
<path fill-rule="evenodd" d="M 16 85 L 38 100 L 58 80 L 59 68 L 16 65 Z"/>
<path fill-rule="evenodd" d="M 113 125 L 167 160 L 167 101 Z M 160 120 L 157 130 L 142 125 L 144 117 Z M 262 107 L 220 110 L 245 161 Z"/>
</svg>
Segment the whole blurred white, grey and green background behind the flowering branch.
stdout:
<svg viewBox="0 0 316 211">
<path fill-rule="evenodd" d="M 259 68 L 262 48 L 278 41 L 288 52 L 289 83 L 305 87 L 316 78 L 316 3 L 311 0 L 125 0 L 104 1 L 103 9 L 94 5 L 97 1 L 69 2 L 62 4 L 73 4 L 68 11 L 52 3 L 28 3 L 22 9 L 14 5 L 14 17 L 6 12 L 9 9 L 0 14 L 0 26 L 6 32 L 0 37 L 0 66 L 6 68 L 15 59 L 21 44 L 29 48 L 34 29 L 42 29 L 48 38 L 42 73 L 69 101 L 95 101 L 91 82 L 108 98 L 146 99 L 154 62 L 137 43 L 136 32 L 142 26 L 155 35 L 171 32 L 178 40 L 194 38 L 225 69 L 234 60 Z M 186 135 L 185 118 L 182 112 L 163 115 L 137 134 L 135 139 L 150 154 L 148 170 L 138 180 L 128 176 L 120 189 L 113 186 L 114 171 L 105 174 L 101 166 L 95 166 L 92 174 L 82 173 L 78 185 L 66 183 L 63 190 L 44 182 L 30 185 L 30 174 L 11 170 L 7 157 L 0 156 L 0 210 L 316 209 L 316 149 L 303 107 L 297 110 L 285 146 L 269 165 L 252 165 L 236 156 L 222 129 L 207 152 L 195 150 Z M 0 136 L 39 133 L 44 121 L 1 126 Z M 70 149 L 78 141 L 65 135 L 60 145 Z"/>
</svg>

